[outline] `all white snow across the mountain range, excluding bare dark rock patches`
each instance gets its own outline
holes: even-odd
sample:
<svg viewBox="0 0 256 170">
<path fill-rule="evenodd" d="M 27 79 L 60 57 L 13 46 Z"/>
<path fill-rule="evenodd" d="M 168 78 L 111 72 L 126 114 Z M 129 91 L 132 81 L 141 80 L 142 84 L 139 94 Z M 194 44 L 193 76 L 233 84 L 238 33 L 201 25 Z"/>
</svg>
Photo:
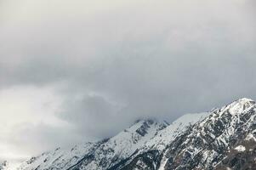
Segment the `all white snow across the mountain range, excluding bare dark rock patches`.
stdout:
<svg viewBox="0 0 256 170">
<path fill-rule="evenodd" d="M 196 130 L 195 128 L 195 131 L 193 129 L 192 132 L 194 133 L 191 133 L 189 136 L 200 137 L 201 135 L 206 135 L 204 130 L 206 129 L 208 122 L 222 121 L 222 116 L 231 116 L 229 123 L 225 124 L 225 131 L 217 137 L 213 135 L 214 129 L 212 127 L 208 127 L 207 135 L 214 139 L 215 144 L 228 146 L 230 140 L 229 137 L 236 133 L 237 123 L 243 122 L 240 117 L 243 116 L 243 114 L 247 114 L 247 111 L 253 107 L 255 107 L 253 100 L 244 98 L 238 99 L 230 105 L 222 107 L 221 109 L 214 109 L 213 112 L 187 114 L 185 116 L 181 116 L 179 119 L 168 126 L 165 122 L 139 121 L 134 124 L 134 126 L 125 129 L 121 133 L 118 133 L 116 136 L 107 140 L 104 144 L 79 144 L 73 149 L 53 150 L 48 153 L 44 153 L 41 156 L 37 156 L 35 161 L 32 161 L 31 164 L 24 162 L 17 170 L 31 170 L 36 169 L 38 166 L 40 166 L 38 170 L 43 170 L 50 169 L 50 166 L 52 165 L 54 165 L 54 169 L 66 169 L 67 167 L 71 167 L 72 165 L 76 164 L 77 161 L 80 161 L 83 156 L 90 153 L 92 150 L 95 156 L 94 160 L 89 162 L 87 165 L 82 165 L 82 168 L 90 170 L 101 170 L 104 169 L 99 167 L 100 161 L 102 160 L 105 160 L 106 166 L 109 166 L 111 163 L 115 164 L 118 161 L 131 156 L 135 150 L 139 150 L 139 153 L 143 153 L 147 150 L 163 151 L 168 144 L 172 143 L 174 139 L 176 139 L 180 134 L 184 133 L 188 127 L 194 125 L 195 123 L 197 123 L 199 129 Z M 225 114 L 228 115 L 226 116 Z M 251 116 L 249 120 L 245 122 L 247 127 L 251 126 L 253 118 L 254 116 Z M 140 127 L 143 127 L 145 123 L 146 126 L 144 130 L 146 133 L 145 135 L 140 135 L 136 131 L 140 129 Z M 167 127 L 162 129 L 162 125 Z M 249 133 L 246 139 L 253 139 L 256 141 L 253 136 L 253 132 Z M 207 143 L 204 139 L 202 140 L 203 142 Z M 246 150 L 246 148 L 243 145 L 239 145 L 235 148 L 235 150 L 241 152 Z M 209 164 L 216 156 L 218 156 L 218 153 L 214 150 L 202 150 L 202 148 L 196 147 L 188 147 L 186 148 L 186 151 L 189 151 L 191 156 L 194 156 L 196 153 L 202 151 L 202 160 L 205 161 L 206 164 Z M 163 156 L 162 161 L 160 162 L 159 170 L 164 169 L 168 161 L 166 153 L 167 150 L 162 153 Z M 116 160 L 117 162 L 113 162 L 112 160 Z M 144 166 L 142 161 L 139 161 L 138 163 L 141 167 Z"/>
</svg>

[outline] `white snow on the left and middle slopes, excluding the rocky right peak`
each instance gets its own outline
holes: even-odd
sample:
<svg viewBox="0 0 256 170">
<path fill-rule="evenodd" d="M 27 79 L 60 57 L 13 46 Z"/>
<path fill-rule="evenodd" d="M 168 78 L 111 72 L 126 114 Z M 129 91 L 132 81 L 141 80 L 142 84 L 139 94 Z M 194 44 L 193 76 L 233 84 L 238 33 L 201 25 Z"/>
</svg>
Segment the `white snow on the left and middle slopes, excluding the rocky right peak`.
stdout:
<svg viewBox="0 0 256 170">
<path fill-rule="evenodd" d="M 181 116 L 177 121 L 162 130 L 159 129 L 161 129 L 163 125 L 167 126 L 168 124 L 166 122 L 147 122 L 148 126 L 146 126 L 145 136 L 141 136 L 136 132 L 136 130 L 142 127 L 146 122 L 139 121 L 134 124 L 134 126 L 125 129 L 104 144 L 101 144 L 100 147 L 97 146 L 99 148 L 94 150 L 95 160 L 91 161 L 84 168 L 91 170 L 101 169 L 97 166 L 101 159 L 109 160 L 109 163 L 111 163 L 114 157 L 118 157 L 118 159 L 126 158 L 131 156 L 131 154 L 138 149 L 145 151 L 155 147 L 159 150 L 163 150 L 169 142 L 175 139 L 180 133 L 184 132 L 186 127 L 202 120 L 205 116 L 208 116 L 208 113 L 187 114 Z M 17 170 L 31 170 L 39 166 L 40 170 L 49 169 L 52 165 L 59 169 L 65 169 L 76 164 L 82 159 L 82 156 L 86 155 L 90 150 L 94 149 L 94 147 L 96 147 L 94 143 L 87 143 L 76 145 L 72 149 L 58 148 L 35 157 L 34 161 L 31 161 L 31 163 L 23 162 Z M 105 155 L 102 150 L 111 150 L 111 152 Z"/>
</svg>

